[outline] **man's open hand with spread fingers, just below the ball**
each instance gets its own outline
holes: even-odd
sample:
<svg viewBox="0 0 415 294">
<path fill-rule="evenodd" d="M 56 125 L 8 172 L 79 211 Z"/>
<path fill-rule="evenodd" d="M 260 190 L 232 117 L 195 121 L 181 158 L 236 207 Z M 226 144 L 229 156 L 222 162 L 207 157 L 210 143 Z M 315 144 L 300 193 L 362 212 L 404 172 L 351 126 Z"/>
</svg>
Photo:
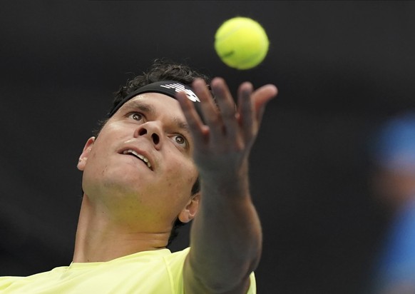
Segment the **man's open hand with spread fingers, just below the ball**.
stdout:
<svg viewBox="0 0 415 294">
<path fill-rule="evenodd" d="M 203 181 L 229 183 L 247 173 L 248 157 L 265 105 L 277 95 L 277 88 L 267 84 L 254 91 L 251 83 L 242 83 L 237 91 L 235 106 L 222 78 L 214 78 L 210 86 L 217 105 L 205 81 L 199 78 L 193 82 L 193 90 L 200 98 L 203 119 L 184 93 L 178 93 L 178 101 L 190 126 L 193 158 Z"/>
</svg>

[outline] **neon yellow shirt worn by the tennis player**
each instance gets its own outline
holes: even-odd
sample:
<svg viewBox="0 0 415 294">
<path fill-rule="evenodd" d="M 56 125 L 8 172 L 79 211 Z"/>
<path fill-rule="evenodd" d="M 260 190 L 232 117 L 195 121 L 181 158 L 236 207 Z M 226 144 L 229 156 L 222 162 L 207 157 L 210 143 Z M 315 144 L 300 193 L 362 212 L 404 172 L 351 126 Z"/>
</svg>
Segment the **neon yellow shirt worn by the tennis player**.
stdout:
<svg viewBox="0 0 415 294">
<path fill-rule="evenodd" d="M 144 251 L 102 263 L 71 263 L 28 277 L 0 277 L 0 293 L 183 294 L 183 263 L 189 249 Z M 248 293 L 256 293 L 254 273 Z"/>
</svg>

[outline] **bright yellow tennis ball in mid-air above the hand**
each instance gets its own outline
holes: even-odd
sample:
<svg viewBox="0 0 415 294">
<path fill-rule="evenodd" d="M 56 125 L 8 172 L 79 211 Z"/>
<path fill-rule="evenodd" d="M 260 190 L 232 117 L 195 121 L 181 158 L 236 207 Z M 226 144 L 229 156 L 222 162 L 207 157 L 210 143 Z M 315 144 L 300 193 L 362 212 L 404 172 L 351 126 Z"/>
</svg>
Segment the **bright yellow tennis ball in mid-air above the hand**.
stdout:
<svg viewBox="0 0 415 294">
<path fill-rule="evenodd" d="M 220 59 L 235 69 L 252 69 L 267 56 L 267 33 L 257 21 L 235 17 L 225 21 L 215 34 L 215 51 Z"/>
</svg>

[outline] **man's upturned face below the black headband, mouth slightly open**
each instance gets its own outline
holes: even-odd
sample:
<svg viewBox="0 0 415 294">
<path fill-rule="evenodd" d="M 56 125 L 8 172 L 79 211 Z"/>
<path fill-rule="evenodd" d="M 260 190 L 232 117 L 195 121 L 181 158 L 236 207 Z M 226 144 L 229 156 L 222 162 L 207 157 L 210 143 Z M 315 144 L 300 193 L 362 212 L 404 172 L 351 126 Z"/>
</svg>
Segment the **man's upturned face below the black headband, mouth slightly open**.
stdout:
<svg viewBox="0 0 415 294">
<path fill-rule="evenodd" d="M 192 153 L 178 101 L 143 93 L 126 102 L 86 144 L 78 163 L 83 191 L 114 218 L 171 224 L 198 177 Z"/>
</svg>

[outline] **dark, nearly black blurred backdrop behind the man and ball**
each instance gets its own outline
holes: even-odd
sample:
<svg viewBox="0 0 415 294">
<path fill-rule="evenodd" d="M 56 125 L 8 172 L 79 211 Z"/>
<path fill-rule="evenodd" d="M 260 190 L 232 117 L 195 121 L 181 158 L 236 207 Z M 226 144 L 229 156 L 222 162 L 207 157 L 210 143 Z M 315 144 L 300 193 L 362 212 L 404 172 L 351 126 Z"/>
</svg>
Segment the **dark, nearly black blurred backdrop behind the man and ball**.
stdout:
<svg viewBox="0 0 415 294">
<path fill-rule="evenodd" d="M 213 49 L 233 16 L 270 51 L 237 71 Z M 2 1 L 0 275 L 71 263 L 83 144 L 155 58 L 275 83 L 251 156 L 259 293 L 364 293 L 389 216 L 369 186 L 373 129 L 415 106 L 413 1 Z M 183 228 L 172 250 L 188 243 Z"/>
</svg>

